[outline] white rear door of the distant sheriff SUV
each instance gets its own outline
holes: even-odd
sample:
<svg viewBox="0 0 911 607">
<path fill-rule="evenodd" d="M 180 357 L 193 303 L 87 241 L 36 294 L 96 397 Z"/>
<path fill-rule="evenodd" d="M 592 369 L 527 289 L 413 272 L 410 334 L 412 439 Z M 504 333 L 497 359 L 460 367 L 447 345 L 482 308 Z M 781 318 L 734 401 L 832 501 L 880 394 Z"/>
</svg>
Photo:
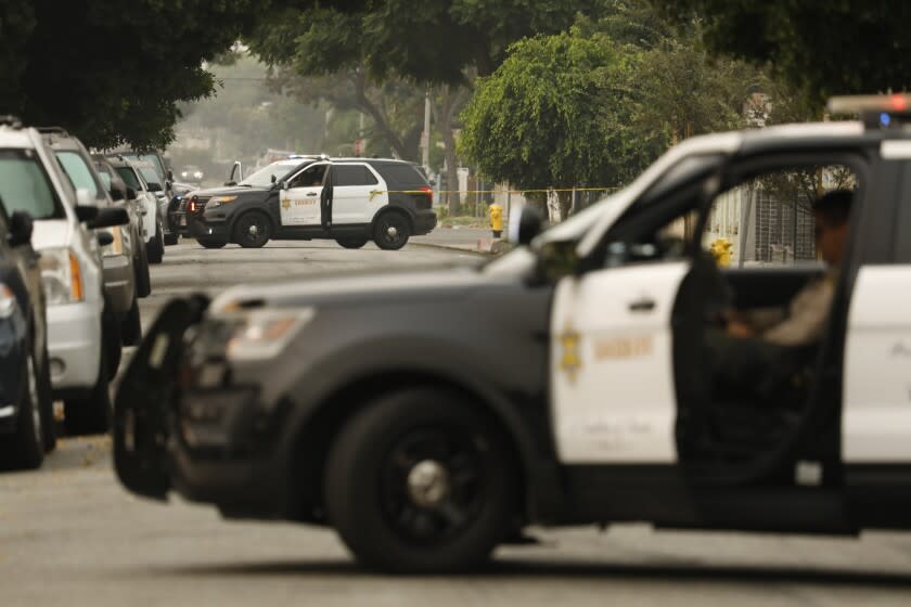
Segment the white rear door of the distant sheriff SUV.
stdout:
<svg viewBox="0 0 911 607">
<path fill-rule="evenodd" d="M 388 201 L 380 176 L 367 163 L 335 164 L 332 172 L 332 223 L 370 223 Z"/>
</svg>

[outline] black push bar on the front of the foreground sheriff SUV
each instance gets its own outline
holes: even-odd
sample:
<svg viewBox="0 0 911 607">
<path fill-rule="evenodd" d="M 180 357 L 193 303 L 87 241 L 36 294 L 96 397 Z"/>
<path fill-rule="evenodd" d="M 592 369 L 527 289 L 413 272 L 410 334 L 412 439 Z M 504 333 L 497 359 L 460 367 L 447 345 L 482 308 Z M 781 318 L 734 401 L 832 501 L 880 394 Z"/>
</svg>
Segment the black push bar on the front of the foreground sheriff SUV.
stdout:
<svg viewBox="0 0 911 607">
<path fill-rule="evenodd" d="M 114 468 L 124 486 L 165 500 L 170 489 L 166 444 L 183 334 L 207 306 L 203 297 L 172 299 L 124 374 L 114 401 Z"/>
</svg>

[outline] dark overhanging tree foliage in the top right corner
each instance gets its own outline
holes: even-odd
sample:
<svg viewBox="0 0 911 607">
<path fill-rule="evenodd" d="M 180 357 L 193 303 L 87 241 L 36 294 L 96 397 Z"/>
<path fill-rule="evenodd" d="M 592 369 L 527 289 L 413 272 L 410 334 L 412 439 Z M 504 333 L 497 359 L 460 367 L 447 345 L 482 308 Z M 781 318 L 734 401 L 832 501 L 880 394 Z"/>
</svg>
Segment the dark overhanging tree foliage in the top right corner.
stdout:
<svg viewBox="0 0 911 607">
<path fill-rule="evenodd" d="M 911 85 L 904 0 L 652 0 L 679 24 L 705 23 L 709 50 L 769 66 L 817 108 L 832 94 Z"/>
</svg>

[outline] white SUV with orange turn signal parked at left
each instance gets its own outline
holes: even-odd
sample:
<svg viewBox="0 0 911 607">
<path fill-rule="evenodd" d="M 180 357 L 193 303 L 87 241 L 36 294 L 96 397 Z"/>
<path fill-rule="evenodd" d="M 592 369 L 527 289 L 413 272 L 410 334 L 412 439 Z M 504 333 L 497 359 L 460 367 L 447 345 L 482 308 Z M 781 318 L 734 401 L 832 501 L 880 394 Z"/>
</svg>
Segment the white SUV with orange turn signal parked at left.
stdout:
<svg viewBox="0 0 911 607">
<path fill-rule="evenodd" d="M 48 351 L 54 397 L 63 399 L 72 434 L 108 427 L 108 382 L 119 358 L 119 326 L 104 293 L 101 246 L 92 229 L 129 221 L 121 208 L 99 209 L 88 190 L 75 191 L 41 134 L 15 124 L 0 125 L 0 150 L 37 158 L 43 175 L 35 189 L 47 196 L 4 199 L 7 210 L 25 210 L 35 219 L 33 246 L 41 254 L 48 302 Z M 25 186 L 24 186 L 24 191 Z"/>
</svg>

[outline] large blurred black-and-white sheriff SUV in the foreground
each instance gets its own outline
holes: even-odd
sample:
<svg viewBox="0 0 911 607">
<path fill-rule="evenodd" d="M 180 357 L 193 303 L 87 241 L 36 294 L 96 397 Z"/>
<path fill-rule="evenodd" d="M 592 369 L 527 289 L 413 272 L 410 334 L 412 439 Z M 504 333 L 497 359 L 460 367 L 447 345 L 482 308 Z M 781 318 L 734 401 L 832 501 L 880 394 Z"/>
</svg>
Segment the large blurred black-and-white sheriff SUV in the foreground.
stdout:
<svg viewBox="0 0 911 607">
<path fill-rule="evenodd" d="M 911 528 L 911 133 L 874 107 L 692 138 L 477 268 L 174 300 L 119 390 L 117 474 L 331 526 L 393 571 L 471 567 L 529 524 Z M 826 337 L 722 400 L 704 333 L 823 271 L 801 205 L 832 188 L 856 204 Z"/>
</svg>

